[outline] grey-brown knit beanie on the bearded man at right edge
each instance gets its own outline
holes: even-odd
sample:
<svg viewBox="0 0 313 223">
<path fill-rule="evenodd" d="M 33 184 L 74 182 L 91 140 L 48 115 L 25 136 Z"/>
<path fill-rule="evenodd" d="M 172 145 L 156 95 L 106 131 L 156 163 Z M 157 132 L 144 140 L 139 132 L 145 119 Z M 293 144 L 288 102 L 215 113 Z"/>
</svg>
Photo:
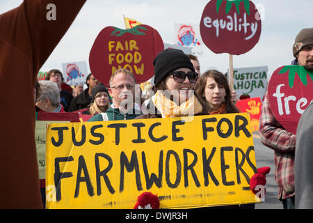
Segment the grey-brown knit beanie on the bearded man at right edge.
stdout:
<svg viewBox="0 0 313 223">
<path fill-rule="evenodd" d="M 292 47 L 294 56 L 296 57 L 296 54 L 307 45 L 313 45 L 313 28 L 303 29 L 298 33 L 294 41 L 294 46 Z"/>
</svg>

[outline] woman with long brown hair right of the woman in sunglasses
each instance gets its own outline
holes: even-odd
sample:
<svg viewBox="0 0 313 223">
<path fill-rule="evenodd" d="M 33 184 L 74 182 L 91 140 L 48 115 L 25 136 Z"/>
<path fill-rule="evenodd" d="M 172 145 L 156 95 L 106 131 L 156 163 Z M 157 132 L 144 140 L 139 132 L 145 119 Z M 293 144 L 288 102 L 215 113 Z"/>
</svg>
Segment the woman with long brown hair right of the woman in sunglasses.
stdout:
<svg viewBox="0 0 313 223">
<path fill-rule="evenodd" d="M 195 92 L 207 106 L 208 114 L 239 113 L 232 102 L 227 78 L 218 70 L 204 72 Z"/>
</svg>

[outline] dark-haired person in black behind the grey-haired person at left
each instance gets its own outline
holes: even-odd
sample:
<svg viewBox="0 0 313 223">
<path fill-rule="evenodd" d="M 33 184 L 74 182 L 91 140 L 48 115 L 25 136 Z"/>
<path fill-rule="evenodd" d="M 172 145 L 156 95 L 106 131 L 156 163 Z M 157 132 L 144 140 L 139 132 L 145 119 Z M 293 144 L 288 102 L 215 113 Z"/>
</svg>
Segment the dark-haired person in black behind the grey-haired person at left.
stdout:
<svg viewBox="0 0 313 223">
<path fill-rule="evenodd" d="M 69 91 L 62 89 L 62 84 L 63 84 L 62 72 L 60 70 L 57 70 L 57 69 L 49 70 L 49 72 L 47 73 L 46 80 L 54 82 L 58 85 L 58 89 L 60 92 L 60 98 L 61 98 L 61 104 L 64 107 L 64 111 L 68 112 L 68 109 L 70 107 L 70 103 L 73 100 L 73 95 Z"/>
</svg>

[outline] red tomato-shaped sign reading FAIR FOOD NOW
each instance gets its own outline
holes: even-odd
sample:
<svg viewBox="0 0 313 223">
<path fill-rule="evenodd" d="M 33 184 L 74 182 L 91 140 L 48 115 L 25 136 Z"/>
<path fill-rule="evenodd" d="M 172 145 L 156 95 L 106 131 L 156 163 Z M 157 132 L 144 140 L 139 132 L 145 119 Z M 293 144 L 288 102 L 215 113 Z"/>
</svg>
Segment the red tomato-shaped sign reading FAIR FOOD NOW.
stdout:
<svg viewBox="0 0 313 223">
<path fill-rule="evenodd" d="M 151 26 L 138 25 L 126 30 L 108 26 L 102 29 L 90 50 L 90 70 L 100 82 L 109 85 L 113 72 L 125 68 L 141 84 L 154 75 L 154 57 L 163 49 L 161 36 Z"/>
</svg>

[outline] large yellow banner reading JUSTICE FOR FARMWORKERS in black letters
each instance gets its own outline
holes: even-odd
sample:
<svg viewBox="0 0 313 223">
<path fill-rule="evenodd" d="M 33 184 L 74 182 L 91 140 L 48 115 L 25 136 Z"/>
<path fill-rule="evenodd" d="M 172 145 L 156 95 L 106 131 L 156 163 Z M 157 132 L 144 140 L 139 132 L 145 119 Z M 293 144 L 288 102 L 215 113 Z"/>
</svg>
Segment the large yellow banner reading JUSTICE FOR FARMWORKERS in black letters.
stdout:
<svg viewBox="0 0 313 223">
<path fill-rule="evenodd" d="M 134 208 L 143 192 L 160 208 L 260 202 L 249 115 L 189 118 L 51 123 L 47 208 Z"/>
</svg>

